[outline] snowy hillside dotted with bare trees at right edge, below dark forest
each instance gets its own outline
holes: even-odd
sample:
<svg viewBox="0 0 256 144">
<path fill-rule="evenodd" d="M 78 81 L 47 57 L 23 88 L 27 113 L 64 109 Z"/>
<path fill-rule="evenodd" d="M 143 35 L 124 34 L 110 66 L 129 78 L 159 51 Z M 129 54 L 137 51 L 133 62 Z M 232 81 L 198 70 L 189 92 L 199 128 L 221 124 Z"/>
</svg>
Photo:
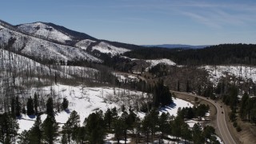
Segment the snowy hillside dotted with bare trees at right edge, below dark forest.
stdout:
<svg viewBox="0 0 256 144">
<path fill-rule="evenodd" d="M 256 82 L 256 67 L 255 66 L 202 66 L 201 69 L 205 69 L 210 74 L 210 81 L 215 84 L 219 79 L 226 77 L 226 74 L 233 75 L 236 78 L 242 78 L 244 80 L 251 79 Z"/>
</svg>

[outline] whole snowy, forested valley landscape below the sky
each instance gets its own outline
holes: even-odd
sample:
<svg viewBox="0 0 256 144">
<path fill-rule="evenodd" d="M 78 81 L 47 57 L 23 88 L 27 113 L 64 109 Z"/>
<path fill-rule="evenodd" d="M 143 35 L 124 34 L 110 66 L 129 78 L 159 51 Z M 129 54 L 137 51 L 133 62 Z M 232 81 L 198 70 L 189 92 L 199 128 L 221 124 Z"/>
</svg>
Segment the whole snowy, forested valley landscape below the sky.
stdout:
<svg viewBox="0 0 256 144">
<path fill-rule="evenodd" d="M 0 21 L 0 143 L 254 142 L 242 126 L 255 128 L 255 54 L 256 45 L 144 47 Z"/>
</svg>

